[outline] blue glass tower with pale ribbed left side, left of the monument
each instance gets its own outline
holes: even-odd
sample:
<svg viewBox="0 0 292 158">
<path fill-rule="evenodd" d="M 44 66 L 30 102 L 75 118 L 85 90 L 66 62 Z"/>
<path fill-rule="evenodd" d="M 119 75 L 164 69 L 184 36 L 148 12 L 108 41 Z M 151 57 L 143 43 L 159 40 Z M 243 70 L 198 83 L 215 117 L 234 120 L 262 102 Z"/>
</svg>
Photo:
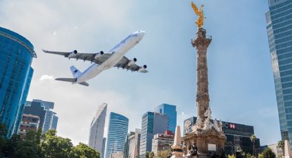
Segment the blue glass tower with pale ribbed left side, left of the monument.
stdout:
<svg viewBox="0 0 292 158">
<path fill-rule="evenodd" d="M 167 129 L 167 115 L 162 113 L 147 112 L 142 116 L 142 131 L 139 152 L 140 157 L 145 157 L 146 151 L 151 151 L 153 136 L 158 133 L 164 133 Z"/>
</svg>

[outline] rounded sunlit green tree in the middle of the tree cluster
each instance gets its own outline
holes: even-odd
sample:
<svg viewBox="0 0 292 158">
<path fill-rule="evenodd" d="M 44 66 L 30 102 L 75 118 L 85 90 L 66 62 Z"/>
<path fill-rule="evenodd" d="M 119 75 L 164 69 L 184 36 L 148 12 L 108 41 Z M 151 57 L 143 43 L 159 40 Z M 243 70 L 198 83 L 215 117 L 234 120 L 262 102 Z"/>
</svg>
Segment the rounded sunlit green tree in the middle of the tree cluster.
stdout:
<svg viewBox="0 0 292 158">
<path fill-rule="evenodd" d="M 45 157 L 68 157 L 73 144 L 71 139 L 56 136 L 56 131 L 49 130 L 41 142 L 41 150 Z"/>
</svg>

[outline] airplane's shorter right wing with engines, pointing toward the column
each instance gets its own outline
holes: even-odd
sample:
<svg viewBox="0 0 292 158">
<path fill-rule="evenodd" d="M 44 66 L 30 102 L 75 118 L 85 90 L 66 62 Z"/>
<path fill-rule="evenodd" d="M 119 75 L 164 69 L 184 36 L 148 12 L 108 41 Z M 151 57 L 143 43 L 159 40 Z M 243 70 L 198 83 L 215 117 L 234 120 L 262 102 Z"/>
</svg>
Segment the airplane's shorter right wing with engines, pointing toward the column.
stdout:
<svg viewBox="0 0 292 158">
<path fill-rule="evenodd" d="M 120 60 L 119 63 L 117 63 L 117 65 L 115 65 L 115 67 L 131 70 L 131 71 L 139 71 L 139 72 L 142 72 L 142 73 L 147 73 L 148 72 L 146 70 L 146 68 L 147 68 L 146 65 L 140 67 L 140 66 L 136 65 L 135 63 L 133 63 L 132 65 L 128 66 L 129 62 L 131 62 L 131 60 L 126 58 L 126 56 L 123 56 L 123 58 Z"/>
</svg>

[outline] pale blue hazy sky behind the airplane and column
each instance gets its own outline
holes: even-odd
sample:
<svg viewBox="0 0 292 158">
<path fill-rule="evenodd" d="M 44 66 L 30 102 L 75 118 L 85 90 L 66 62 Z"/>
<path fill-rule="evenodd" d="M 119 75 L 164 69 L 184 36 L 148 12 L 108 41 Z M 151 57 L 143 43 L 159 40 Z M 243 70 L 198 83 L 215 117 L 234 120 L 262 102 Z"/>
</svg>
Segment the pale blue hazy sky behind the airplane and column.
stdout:
<svg viewBox="0 0 292 158">
<path fill-rule="evenodd" d="M 254 126 L 260 144 L 280 140 L 276 94 L 267 41 L 267 0 L 196 0 L 204 4 L 210 106 L 217 120 Z M 88 143 L 98 106 L 129 119 L 129 131 L 141 128 L 142 115 L 162 103 L 177 105 L 177 125 L 196 116 L 197 30 L 190 0 L 1 0 L 0 26 L 34 45 L 37 58 L 27 100 L 55 102 L 58 135 Z M 109 51 L 137 30 L 143 40 L 126 56 L 147 65 L 148 73 L 112 68 L 89 80 L 89 87 L 54 78 L 71 78 L 69 67 L 84 71 L 91 63 L 45 54 Z"/>
</svg>

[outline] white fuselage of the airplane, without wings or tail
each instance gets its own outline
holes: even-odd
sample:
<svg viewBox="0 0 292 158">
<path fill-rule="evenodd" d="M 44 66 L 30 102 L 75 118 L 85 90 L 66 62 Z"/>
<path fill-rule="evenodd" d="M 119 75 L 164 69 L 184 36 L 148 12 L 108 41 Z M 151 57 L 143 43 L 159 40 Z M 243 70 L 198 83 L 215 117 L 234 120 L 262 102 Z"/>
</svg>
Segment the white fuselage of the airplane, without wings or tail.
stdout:
<svg viewBox="0 0 292 158">
<path fill-rule="evenodd" d="M 113 49 L 109 51 L 113 54 L 109 59 L 105 60 L 104 63 L 102 63 L 101 65 L 93 63 L 93 65 L 83 71 L 82 74 L 77 77 L 76 82 L 73 83 L 86 82 L 87 80 L 94 78 L 95 76 L 100 74 L 100 72 L 114 67 L 117 63 L 120 62 L 120 60 L 123 58 L 126 52 L 128 52 L 129 49 L 137 45 L 137 43 L 142 40 L 144 34 L 145 32 L 143 31 L 137 31 L 133 34 L 130 34 L 120 44 L 116 45 L 115 47 L 113 47 Z"/>
</svg>

